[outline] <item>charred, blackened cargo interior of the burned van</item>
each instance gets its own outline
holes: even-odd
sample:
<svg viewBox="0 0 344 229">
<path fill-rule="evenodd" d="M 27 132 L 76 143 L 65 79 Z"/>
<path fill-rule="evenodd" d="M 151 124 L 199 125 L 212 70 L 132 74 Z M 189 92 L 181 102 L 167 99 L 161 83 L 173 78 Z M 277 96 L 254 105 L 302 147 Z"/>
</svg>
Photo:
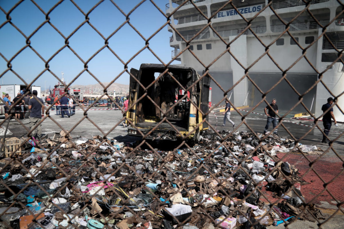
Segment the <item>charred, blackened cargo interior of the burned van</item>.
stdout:
<svg viewBox="0 0 344 229">
<path fill-rule="evenodd" d="M 192 84 L 192 71 L 190 69 L 169 69 L 168 72 L 161 75 L 165 69 L 159 68 L 143 68 L 140 72 L 140 82 L 144 87 L 152 84 L 147 89 L 147 96 L 144 96 L 137 104 L 136 108 L 136 126 L 149 127 L 160 122 L 164 116 L 167 116 L 177 129 L 186 130 L 188 126 L 188 118 L 190 113 L 190 91 L 184 91 L 181 85 L 186 89 Z M 160 76 L 159 78 L 157 76 Z M 174 79 L 173 79 L 174 78 Z M 178 82 L 177 82 L 177 81 Z M 139 99 L 144 93 L 144 89 L 139 86 Z M 172 107 L 184 94 L 181 102 Z M 159 106 L 159 108 L 152 102 Z M 172 108 L 171 108 L 172 107 Z M 170 109 L 171 108 L 171 109 Z M 165 114 L 165 115 L 164 115 Z M 159 129 L 171 129 L 171 125 L 167 122 L 159 125 Z"/>
</svg>

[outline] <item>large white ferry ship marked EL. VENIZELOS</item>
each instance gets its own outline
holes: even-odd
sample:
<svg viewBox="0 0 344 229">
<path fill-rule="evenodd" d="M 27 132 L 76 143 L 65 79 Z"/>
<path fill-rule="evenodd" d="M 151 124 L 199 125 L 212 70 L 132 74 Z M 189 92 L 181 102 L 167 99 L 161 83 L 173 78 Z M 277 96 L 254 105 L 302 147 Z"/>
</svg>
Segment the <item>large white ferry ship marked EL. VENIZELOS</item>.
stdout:
<svg viewBox="0 0 344 229">
<path fill-rule="evenodd" d="M 233 91 L 227 93 L 227 97 L 230 97 L 230 101 L 235 106 L 255 106 L 268 92 L 266 100 L 269 103 L 275 98 L 280 110 L 290 110 L 299 102 L 299 94 L 303 95 L 307 92 L 302 96 L 302 102 L 316 117 L 319 117 L 322 114 L 321 106 L 327 102 L 327 98 L 333 97 L 330 90 L 334 96 L 339 96 L 338 106 L 334 106 L 333 109 L 336 120 L 344 122 L 344 115 L 340 111 L 340 108 L 344 108 L 344 96 L 341 95 L 344 89 L 344 67 L 340 59 L 336 61 L 338 53 L 344 48 L 342 6 L 336 0 L 308 2 L 308 9 L 312 15 L 308 11 L 303 11 L 306 4 L 302 0 L 273 0 L 271 3 L 273 10 L 284 22 L 289 23 L 297 17 L 289 24 L 289 33 L 294 37 L 293 39 L 287 32 L 281 35 L 287 26 L 269 7 L 262 11 L 268 5 L 268 0 L 232 1 L 237 10 L 248 20 L 260 12 L 250 24 L 255 34 L 245 30 L 248 23 L 241 18 L 232 4 L 228 4 L 227 0 L 193 0 L 192 3 L 188 1 L 185 4 L 182 0 L 169 0 L 165 10 L 166 14 L 171 16 L 171 26 L 168 27 L 168 31 L 172 33 L 170 46 L 174 48 L 171 57 L 176 57 L 180 65 L 192 67 L 200 73 L 206 69 L 205 66 L 210 65 L 209 73 L 219 84 L 214 81 L 211 83 L 213 103 L 224 98 L 223 90 L 227 91 L 242 79 L 235 85 Z M 193 4 L 207 18 L 213 16 L 212 19 L 208 21 Z M 208 22 L 212 28 L 207 26 Z M 335 47 L 321 35 L 323 33 L 321 25 L 326 26 L 325 35 Z M 243 34 L 237 37 L 242 32 Z M 197 33 L 199 34 L 195 36 Z M 230 45 L 230 52 L 244 68 L 250 66 L 248 76 L 259 89 L 247 77 L 243 78 L 244 68 L 228 51 L 225 51 L 226 43 L 233 39 L 235 41 Z M 266 51 L 262 43 L 268 46 L 275 39 L 276 42 L 271 44 L 268 50 L 271 58 L 268 55 L 260 58 Z M 185 50 L 187 45 L 190 45 L 189 49 L 205 66 L 189 49 Z M 302 57 L 303 50 L 299 45 L 302 48 L 309 46 L 305 51 L 305 57 Z M 342 59 L 344 60 L 343 57 Z M 293 65 L 295 61 L 297 62 Z M 334 61 L 336 62 L 332 64 Z M 322 78 L 322 82 L 329 90 L 321 82 L 314 85 L 319 75 L 312 66 L 319 72 L 329 68 L 323 73 Z M 279 82 L 283 71 L 286 70 L 287 80 Z M 270 90 L 271 88 L 273 89 Z M 266 106 L 266 103 L 263 102 L 260 106 Z M 305 112 L 302 104 L 293 108 L 293 113 L 295 112 Z"/>
</svg>

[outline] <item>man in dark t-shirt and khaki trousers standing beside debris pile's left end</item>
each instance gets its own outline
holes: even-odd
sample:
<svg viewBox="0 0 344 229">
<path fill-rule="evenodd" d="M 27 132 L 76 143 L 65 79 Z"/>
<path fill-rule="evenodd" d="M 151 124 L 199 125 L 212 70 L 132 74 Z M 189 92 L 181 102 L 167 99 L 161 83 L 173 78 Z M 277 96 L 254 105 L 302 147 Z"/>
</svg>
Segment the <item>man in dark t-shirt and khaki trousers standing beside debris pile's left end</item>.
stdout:
<svg viewBox="0 0 344 229">
<path fill-rule="evenodd" d="M 44 117 L 44 105 L 43 100 L 37 97 L 37 91 L 33 90 L 32 94 L 34 95 L 29 100 L 29 109 L 31 109 L 29 117 L 29 127 L 32 130 L 33 137 L 34 133 L 37 133 L 37 140 L 42 137 L 42 125 L 41 120 Z"/>
</svg>

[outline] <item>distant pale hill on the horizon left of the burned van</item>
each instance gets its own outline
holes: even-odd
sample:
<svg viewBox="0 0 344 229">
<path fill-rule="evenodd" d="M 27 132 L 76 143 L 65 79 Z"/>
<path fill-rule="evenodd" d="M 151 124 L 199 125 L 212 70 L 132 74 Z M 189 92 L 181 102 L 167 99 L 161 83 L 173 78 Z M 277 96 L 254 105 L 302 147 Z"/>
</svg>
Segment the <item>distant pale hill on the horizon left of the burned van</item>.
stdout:
<svg viewBox="0 0 344 229">
<path fill-rule="evenodd" d="M 101 82 L 106 87 L 109 82 Z M 84 94 L 103 94 L 104 88 L 99 84 L 89 84 L 89 85 L 71 85 L 71 88 L 83 88 Z M 116 94 L 127 94 L 129 93 L 129 85 L 120 84 L 120 83 L 112 83 L 108 88 L 108 94 L 113 94 L 114 90 L 116 90 Z"/>
</svg>

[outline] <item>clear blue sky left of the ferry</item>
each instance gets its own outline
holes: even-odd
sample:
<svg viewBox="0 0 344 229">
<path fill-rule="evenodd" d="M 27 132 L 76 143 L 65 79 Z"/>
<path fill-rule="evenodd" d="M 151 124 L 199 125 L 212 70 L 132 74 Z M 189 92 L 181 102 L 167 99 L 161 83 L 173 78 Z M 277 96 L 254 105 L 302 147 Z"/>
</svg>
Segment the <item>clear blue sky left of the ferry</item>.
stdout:
<svg viewBox="0 0 344 229">
<path fill-rule="evenodd" d="M 95 4 L 96 0 L 74 0 L 82 11 L 87 13 Z M 35 0 L 35 2 L 46 13 L 58 1 L 57 0 Z M 114 0 L 124 13 L 130 12 L 140 1 L 138 0 Z M 17 1 L 1 0 L 0 7 L 8 12 Z M 165 12 L 166 0 L 155 0 L 158 7 Z M 26 36 L 30 36 L 37 27 L 46 19 L 45 15 L 29 0 L 21 2 L 11 13 L 11 22 L 17 26 Z M 75 5 L 65 0 L 58 5 L 50 14 L 50 22 L 65 37 L 68 37 L 80 24 L 85 21 L 85 16 Z M 165 22 L 165 16 L 150 2 L 143 2 L 130 16 L 130 23 L 137 28 L 144 38 L 150 37 Z M 6 14 L 0 12 L 0 24 L 6 21 Z M 123 22 L 126 21 L 123 15 L 110 0 L 104 0 L 96 9 L 89 14 L 89 22 L 104 37 L 108 37 Z M 167 63 L 171 60 L 171 50 L 167 26 L 163 27 L 150 41 L 149 47 L 159 58 Z M 9 23 L 0 28 L 1 45 L 0 52 L 10 60 L 21 48 L 25 47 L 26 39 Z M 104 46 L 104 39 L 88 24 L 85 23 L 69 39 L 69 46 L 82 58 L 87 61 L 98 49 Z M 133 55 L 145 46 L 145 41 L 140 35 L 125 24 L 110 39 L 109 47 L 127 62 Z M 49 24 L 45 23 L 31 38 L 31 46 L 44 60 L 52 57 L 57 50 L 65 45 L 64 38 Z M 139 68 L 141 63 L 160 63 L 159 60 L 146 48 L 128 64 L 130 68 Z M 174 62 L 178 64 L 179 61 Z M 34 53 L 30 47 L 26 47 L 18 56 L 11 61 L 12 69 L 25 81 L 32 82 L 44 69 L 42 59 Z M 0 57 L 0 72 L 7 69 L 7 61 Z M 65 47 L 49 62 L 49 69 L 59 78 L 64 72 L 67 83 L 71 82 L 84 69 L 84 64 L 69 49 Z M 93 73 L 101 82 L 110 82 L 117 77 L 124 69 L 121 61 L 111 53 L 108 48 L 100 51 L 88 63 L 88 70 Z M 0 73 L 0 74 L 1 74 Z M 49 89 L 56 84 L 57 79 L 52 73 L 45 71 L 32 85 Z M 129 84 L 129 75 L 124 73 L 116 83 Z M 88 72 L 82 73 L 73 84 L 95 84 L 97 81 Z M 23 82 L 11 71 L 6 72 L 0 79 L 0 84 L 23 84 Z"/>
</svg>

